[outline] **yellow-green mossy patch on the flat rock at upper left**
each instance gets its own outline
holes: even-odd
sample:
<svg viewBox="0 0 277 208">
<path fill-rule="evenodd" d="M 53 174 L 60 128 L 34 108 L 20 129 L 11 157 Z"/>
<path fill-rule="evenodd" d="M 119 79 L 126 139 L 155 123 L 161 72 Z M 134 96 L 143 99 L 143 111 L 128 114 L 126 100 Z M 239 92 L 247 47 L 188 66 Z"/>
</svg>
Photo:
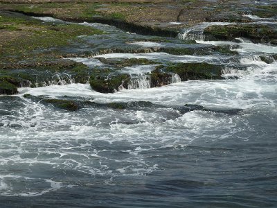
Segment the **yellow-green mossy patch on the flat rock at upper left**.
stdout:
<svg viewBox="0 0 277 208">
<path fill-rule="evenodd" d="M 36 19 L 24 19 L 1 15 L 0 31 L 10 31 L 7 40 L 1 42 L 1 54 L 4 56 L 26 58 L 37 49 L 53 49 L 78 42 L 79 35 L 102 34 L 95 28 L 78 24 L 46 24 Z M 18 33 L 17 31 L 20 31 Z M 14 32 L 14 33 L 13 33 Z M 17 32 L 17 33 L 16 33 Z M 12 41 L 9 41 L 12 39 Z M 49 55 L 50 53 L 48 53 Z"/>
</svg>

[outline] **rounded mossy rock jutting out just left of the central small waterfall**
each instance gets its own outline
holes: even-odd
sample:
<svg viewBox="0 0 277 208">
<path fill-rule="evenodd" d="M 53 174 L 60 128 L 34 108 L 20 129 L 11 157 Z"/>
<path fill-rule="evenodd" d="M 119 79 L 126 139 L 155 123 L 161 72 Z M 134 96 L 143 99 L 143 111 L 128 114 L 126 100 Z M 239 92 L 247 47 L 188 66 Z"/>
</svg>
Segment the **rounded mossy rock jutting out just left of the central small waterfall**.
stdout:
<svg viewBox="0 0 277 208">
<path fill-rule="evenodd" d="M 129 80 L 129 74 L 118 74 L 110 76 L 109 78 L 91 76 L 89 84 L 96 92 L 114 93 L 118 91 L 120 87 L 127 88 Z"/>
</svg>

